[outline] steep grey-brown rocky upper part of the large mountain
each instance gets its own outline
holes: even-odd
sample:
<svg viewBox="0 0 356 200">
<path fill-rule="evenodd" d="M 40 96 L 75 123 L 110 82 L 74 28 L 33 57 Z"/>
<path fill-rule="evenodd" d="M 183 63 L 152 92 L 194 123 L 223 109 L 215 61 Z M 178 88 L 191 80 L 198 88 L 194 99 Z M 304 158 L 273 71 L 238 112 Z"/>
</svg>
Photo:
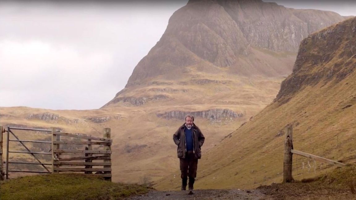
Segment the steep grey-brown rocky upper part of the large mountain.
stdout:
<svg viewBox="0 0 356 200">
<path fill-rule="evenodd" d="M 342 20 L 335 12 L 289 9 L 261 0 L 189 1 L 169 19 L 161 40 L 138 63 L 126 88 L 158 75 L 178 78 L 201 63 L 247 76 L 276 76 L 281 70 L 271 74 L 263 70 L 275 66 L 253 69 L 258 56 L 251 47 L 297 52 L 300 41 L 310 33 Z"/>
</svg>

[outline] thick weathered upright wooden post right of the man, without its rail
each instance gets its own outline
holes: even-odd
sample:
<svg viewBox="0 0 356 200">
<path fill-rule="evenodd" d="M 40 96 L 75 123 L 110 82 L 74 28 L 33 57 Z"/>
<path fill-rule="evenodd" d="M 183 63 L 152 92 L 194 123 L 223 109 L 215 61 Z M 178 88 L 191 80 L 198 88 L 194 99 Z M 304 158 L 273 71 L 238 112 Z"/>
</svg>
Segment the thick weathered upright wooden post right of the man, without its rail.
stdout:
<svg viewBox="0 0 356 200">
<path fill-rule="evenodd" d="M 290 183 L 293 181 L 292 177 L 292 152 L 293 149 L 293 126 L 286 127 L 286 140 L 284 140 L 284 161 L 283 161 L 283 183 Z"/>
</svg>

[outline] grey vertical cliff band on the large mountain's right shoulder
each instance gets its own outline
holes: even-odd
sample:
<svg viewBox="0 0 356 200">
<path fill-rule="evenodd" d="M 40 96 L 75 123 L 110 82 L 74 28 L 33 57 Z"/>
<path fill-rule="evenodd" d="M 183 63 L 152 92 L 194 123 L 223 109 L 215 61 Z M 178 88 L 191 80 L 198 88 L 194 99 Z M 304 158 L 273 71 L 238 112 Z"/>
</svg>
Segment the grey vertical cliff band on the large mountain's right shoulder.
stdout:
<svg viewBox="0 0 356 200">
<path fill-rule="evenodd" d="M 345 19 L 335 12 L 289 9 L 259 0 L 218 2 L 251 46 L 275 52 L 296 52 L 310 33 Z"/>
</svg>

